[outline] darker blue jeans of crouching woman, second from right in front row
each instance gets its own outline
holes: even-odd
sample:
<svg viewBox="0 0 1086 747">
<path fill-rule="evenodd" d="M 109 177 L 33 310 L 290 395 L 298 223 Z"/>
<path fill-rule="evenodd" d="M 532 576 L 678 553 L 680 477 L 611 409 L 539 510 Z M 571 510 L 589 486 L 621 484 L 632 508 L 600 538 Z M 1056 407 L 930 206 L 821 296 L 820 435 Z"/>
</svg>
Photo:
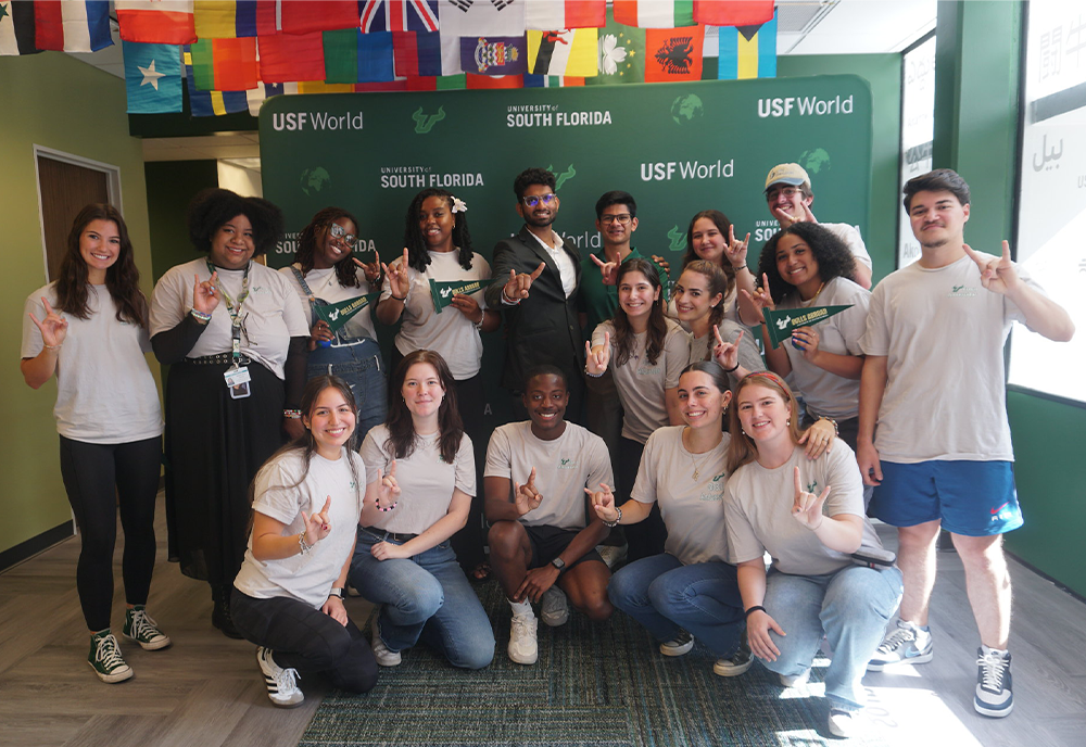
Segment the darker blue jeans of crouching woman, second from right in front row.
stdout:
<svg viewBox="0 0 1086 747">
<path fill-rule="evenodd" d="M 740 644 L 743 600 L 735 566 L 727 562 L 684 566 L 673 555 L 653 555 L 615 573 L 607 596 L 657 641 L 670 641 L 685 628 L 718 657 Z"/>
</svg>

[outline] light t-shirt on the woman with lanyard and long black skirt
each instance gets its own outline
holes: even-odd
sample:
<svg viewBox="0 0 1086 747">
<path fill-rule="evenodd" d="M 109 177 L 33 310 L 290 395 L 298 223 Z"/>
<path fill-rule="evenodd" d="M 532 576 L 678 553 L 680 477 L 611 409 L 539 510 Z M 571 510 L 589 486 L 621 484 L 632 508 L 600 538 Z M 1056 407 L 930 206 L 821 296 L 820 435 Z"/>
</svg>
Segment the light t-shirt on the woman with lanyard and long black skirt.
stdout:
<svg viewBox="0 0 1086 747">
<path fill-rule="evenodd" d="M 218 282 L 227 295 L 238 303 L 244 270 L 216 268 Z M 181 324 L 192 311 L 192 289 L 197 278 L 210 280 L 207 261 L 203 257 L 177 265 L 159 279 L 151 296 L 151 337 Z M 291 338 L 308 338 L 305 312 L 287 278 L 257 262 L 250 263 L 249 296 L 241 307 L 241 354 L 261 362 L 280 379 L 287 362 Z M 226 299 L 219 299 L 207 328 L 186 357 L 229 353 L 232 321 Z"/>
</svg>

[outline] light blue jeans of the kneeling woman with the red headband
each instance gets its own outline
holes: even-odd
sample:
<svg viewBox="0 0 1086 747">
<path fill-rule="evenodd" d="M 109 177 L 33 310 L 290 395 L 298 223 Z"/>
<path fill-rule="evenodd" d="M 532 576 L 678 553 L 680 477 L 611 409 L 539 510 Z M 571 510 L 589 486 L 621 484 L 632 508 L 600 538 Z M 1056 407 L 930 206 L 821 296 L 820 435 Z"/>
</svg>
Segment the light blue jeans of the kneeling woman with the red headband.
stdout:
<svg viewBox="0 0 1086 747">
<path fill-rule="evenodd" d="M 835 708 L 861 708 L 860 680 L 901 600 L 901 571 L 860 566 L 825 575 L 770 571 L 766 585 L 766 611 L 787 635 L 770 631 L 781 655 L 762 663 L 787 676 L 803 674 L 810 669 L 824 631 L 833 648 L 825 695 Z"/>
</svg>

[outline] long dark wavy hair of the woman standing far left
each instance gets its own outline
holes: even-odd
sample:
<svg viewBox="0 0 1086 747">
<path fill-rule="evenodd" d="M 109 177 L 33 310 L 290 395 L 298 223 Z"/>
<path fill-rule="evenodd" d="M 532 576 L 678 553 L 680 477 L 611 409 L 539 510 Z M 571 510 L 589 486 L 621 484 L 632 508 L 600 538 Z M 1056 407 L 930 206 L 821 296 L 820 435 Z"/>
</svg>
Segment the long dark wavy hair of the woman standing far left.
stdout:
<svg viewBox="0 0 1086 747">
<path fill-rule="evenodd" d="M 117 227 L 121 250 L 117 259 L 105 270 L 105 288 L 117 307 L 117 321 L 130 321 L 147 328 L 147 297 L 139 289 L 139 270 L 128 238 L 128 227 L 121 217 L 121 211 L 105 203 L 91 203 L 79 211 L 68 231 L 67 250 L 61 259 L 56 278 L 56 307 L 74 317 L 90 317 L 87 291 L 87 261 L 79 251 L 83 232 L 94 220 L 109 220 Z"/>
</svg>

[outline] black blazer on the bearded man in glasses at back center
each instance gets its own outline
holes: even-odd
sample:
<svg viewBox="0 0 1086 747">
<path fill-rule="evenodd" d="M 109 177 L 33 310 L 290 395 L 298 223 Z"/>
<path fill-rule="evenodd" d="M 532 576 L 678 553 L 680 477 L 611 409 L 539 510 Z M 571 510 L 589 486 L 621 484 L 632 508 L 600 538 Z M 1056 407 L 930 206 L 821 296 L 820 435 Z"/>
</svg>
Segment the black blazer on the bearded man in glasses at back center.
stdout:
<svg viewBox="0 0 1086 747">
<path fill-rule="evenodd" d="M 491 259 L 493 277 L 500 278 L 487 289 L 487 305 L 501 311 L 505 318 L 506 347 L 502 385 L 519 392 L 525 374 L 535 366 L 551 364 L 566 372 L 570 381 L 579 380 L 584 368 L 584 350 L 577 314 L 577 289 L 581 286 L 581 254 L 571 239 L 563 237 L 563 248 L 573 262 L 577 288 L 567 299 L 561 290 L 558 267 L 528 227 L 520 233 L 502 239 L 494 246 Z M 516 306 L 502 303 L 502 289 L 509 270 L 533 273 L 540 263 L 546 265 L 532 283 L 528 297 Z"/>
</svg>

